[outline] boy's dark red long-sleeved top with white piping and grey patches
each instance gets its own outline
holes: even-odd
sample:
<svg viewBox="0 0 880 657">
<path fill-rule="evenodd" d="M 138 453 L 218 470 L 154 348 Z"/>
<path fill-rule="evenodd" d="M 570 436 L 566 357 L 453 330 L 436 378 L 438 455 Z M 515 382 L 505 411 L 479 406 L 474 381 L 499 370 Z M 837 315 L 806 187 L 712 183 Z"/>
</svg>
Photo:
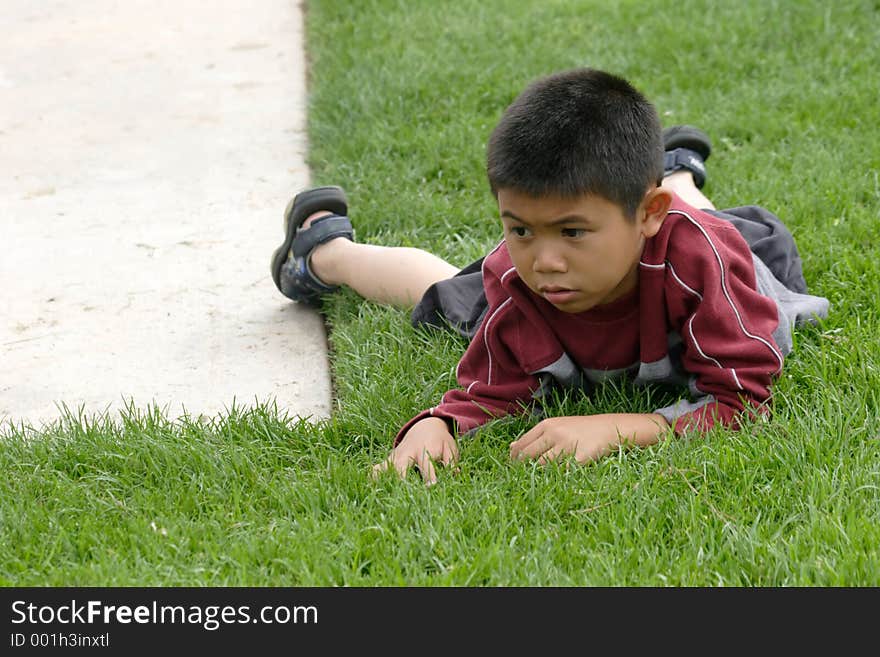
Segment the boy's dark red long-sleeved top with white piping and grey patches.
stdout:
<svg viewBox="0 0 880 657">
<path fill-rule="evenodd" d="M 629 373 L 636 383 L 688 386 L 692 401 L 658 409 L 676 433 L 737 426 L 767 412 L 783 356 L 776 303 L 756 290 L 752 253 L 729 222 L 676 197 L 647 240 L 638 288 L 583 313 L 565 313 L 519 278 L 501 242 L 483 262 L 489 309 L 458 364 L 461 386 L 410 420 L 454 423 L 455 435 L 521 413 L 549 384 L 581 385 Z"/>
</svg>

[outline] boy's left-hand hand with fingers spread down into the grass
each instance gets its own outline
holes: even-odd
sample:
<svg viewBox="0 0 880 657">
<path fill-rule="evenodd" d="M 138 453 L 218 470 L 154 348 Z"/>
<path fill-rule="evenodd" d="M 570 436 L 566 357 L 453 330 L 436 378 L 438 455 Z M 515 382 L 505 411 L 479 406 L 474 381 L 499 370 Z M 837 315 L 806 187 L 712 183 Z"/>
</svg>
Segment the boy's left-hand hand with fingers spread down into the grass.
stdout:
<svg viewBox="0 0 880 657">
<path fill-rule="evenodd" d="M 451 465 L 458 460 L 458 445 L 449 433 L 445 420 L 426 417 L 412 425 L 388 458 L 373 466 L 372 475 L 377 477 L 389 467 L 394 467 L 401 479 L 406 477 L 410 466 L 421 473 L 426 486 L 437 483 L 434 461 Z"/>
</svg>

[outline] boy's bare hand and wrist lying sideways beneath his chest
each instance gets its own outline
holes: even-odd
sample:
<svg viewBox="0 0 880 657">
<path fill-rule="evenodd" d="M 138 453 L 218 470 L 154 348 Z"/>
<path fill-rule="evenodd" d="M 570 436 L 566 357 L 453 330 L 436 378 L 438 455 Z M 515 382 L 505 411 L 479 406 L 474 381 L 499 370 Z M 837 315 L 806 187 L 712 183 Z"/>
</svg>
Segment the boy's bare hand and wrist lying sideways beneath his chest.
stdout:
<svg viewBox="0 0 880 657">
<path fill-rule="evenodd" d="M 620 447 L 653 445 L 668 429 L 657 413 L 552 417 L 510 443 L 510 458 L 544 464 L 570 454 L 580 463 L 595 461 Z"/>
</svg>

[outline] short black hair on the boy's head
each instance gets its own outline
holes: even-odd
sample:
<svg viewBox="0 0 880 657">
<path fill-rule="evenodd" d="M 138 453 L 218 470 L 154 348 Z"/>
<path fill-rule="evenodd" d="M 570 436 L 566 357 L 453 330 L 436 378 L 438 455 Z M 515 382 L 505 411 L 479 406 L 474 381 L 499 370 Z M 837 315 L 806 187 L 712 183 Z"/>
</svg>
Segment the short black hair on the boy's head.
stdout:
<svg viewBox="0 0 880 657">
<path fill-rule="evenodd" d="M 536 198 L 596 194 L 628 217 L 663 177 L 660 117 L 623 78 L 592 68 L 532 82 L 508 106 L 489 139 L 492 193 Z"/>
</svg>

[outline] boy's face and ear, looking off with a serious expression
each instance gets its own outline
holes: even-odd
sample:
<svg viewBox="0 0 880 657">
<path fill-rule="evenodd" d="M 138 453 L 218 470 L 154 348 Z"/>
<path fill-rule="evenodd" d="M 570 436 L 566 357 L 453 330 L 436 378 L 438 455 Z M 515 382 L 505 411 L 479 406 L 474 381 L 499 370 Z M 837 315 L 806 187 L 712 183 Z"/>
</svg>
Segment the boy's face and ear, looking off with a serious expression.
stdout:
<svg viewBox="0 0 880 657">
<path fill-rule="evenodd" d="M 653 205 L 646 209 L 652 196 L 646 195 L 632 221 L 620 206 L 594 194 L 535 198 L 499 190 L 504 239 L 517 273 L 564 312 L 619 299 L 635 289 L 645 239 L 665 216 L 665 208 L 662 216 Z"/>
</svg>

